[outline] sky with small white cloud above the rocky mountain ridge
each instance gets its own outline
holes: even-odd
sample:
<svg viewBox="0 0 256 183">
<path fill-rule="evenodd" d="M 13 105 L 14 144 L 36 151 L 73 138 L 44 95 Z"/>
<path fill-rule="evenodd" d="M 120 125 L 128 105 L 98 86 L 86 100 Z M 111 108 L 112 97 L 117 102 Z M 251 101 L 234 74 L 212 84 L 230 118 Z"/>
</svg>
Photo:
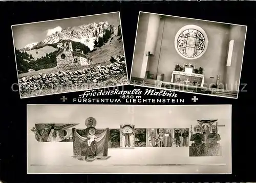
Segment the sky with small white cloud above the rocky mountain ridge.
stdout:
<svg viewBox="0 0 256 183">
<path fill-rule="evenodd" d="M 120 24 L 119 13 L 83 16 L 76 18 L 49 20 L 44 22 L 25 23 L 12 26 L 14 46 L 21 49 L 29 43 L 46 39 L 50 34 L 69 27 L 83 24 L 108 21 L 115 27 Z"/>
</svg>

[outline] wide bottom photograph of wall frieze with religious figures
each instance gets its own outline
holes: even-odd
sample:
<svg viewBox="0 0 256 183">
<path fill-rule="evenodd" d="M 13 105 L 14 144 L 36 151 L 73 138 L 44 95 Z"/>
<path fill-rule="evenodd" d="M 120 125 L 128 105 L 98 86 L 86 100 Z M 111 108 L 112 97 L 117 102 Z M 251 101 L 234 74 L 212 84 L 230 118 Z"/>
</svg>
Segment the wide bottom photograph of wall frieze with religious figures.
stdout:
<svg viewBox="0 0 256 183">
<path fill-rule="evenodd" d="M 231 105 L 28 104 L 27 116 L 28 174 L 231 174 Z"/>
</svg>

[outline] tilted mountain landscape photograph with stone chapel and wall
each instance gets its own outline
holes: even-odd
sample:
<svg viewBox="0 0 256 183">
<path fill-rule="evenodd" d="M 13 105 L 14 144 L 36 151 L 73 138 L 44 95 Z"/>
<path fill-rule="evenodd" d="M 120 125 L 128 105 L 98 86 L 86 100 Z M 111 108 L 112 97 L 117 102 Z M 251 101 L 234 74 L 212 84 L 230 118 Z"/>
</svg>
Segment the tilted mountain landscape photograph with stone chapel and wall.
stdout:
<svg viewBox="0 0 256 183">
<path fill-rule="evenodd" d="M 119 12 L 12 25 L 20 98 L 128 84 Z"/>
</svg>

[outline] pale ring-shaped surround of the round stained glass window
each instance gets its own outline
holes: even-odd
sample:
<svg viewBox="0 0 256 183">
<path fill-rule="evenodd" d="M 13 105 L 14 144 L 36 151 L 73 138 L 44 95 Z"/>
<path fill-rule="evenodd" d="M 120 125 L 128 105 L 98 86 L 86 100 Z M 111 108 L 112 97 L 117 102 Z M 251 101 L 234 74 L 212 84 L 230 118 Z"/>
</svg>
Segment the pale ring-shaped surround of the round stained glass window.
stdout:
<svg viewBox="0 0 256 183">
<path fill-rule="evenodd" d="M 204 44 L 204 49 L 203 49 L 202 53 L 199 54 L 199 55 L 196 56 L 196 57 L 186 57 L 186 56 L 182 55 L 182 54 L 180 53 L 180 50 L 179 50 L 178 45 L 177 45 L 177 41 L 178 41 L 178 38 L 180 37 L 180 34 L 181 34 L 182 32 L 184 32 L 184 31 L 188 30 L 188 29 L 195 29 L 195 30 L 197 30 L 198 32 L 200 32 L 200 33 L 203 35 L 203 37 L 204 37 L 204 42 L 205 42 L 205 44 Z M 198 59 L 198 58 L 202 57 L 202 55 L 204 55 L 204 53 L 205 53 L 205 51 L 206 51 L 206 49 L 207 49 L 207 47 L 208 47 L 208 37 L 207 37 L 206 32 L 205 32 L 202 28 L 200 28 L 199 26 L 197 26 L 197 25 L 185 25 L 184 27 L 182 27 L 182 28 L 176 33 L 176 36 L 175 36 L 175 39 L 174 39 L 174 46 L 175 46 L 175 49 L 176 49 L 177 53 L 178 53 L 181 57 L 183 57 L 184 59 L 187 59 L 187 60 L 195 60 L 195 59 Z"/>
</svg>

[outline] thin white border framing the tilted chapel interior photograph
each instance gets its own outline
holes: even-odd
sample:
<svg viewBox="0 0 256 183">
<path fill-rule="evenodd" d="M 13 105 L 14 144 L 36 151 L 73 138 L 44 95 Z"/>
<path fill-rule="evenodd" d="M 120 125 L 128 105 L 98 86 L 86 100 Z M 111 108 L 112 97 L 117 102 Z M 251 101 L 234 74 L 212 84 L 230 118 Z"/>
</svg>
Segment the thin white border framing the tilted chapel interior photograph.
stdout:
<svg viewBox="0 0 256 183">
<path fill-rule="evenodd" d="M 245 30 L 245 40 L 244 40 L 244 47 L 243 47 L 243 56 L 242 56 L 242 63 L 241 63 L 241 69 L 240 69 L 239 84 L 238 84 L 239 86 L 238 86 L 238 94 L 237 94 L 237 97 L 227 97 L 227 96 L 219 96 L 219 95 L 212 95 L 212 94 L 203 94 L 203 93 L 197 93 L 197 92 L 187 92 L 187 91 L 182 91 L 182 90 L 172 90 L 172 89 L 158 88 L 158 87 L 146 87 L 146 86 L 142 86 L 142 85 L 134 85 L 134 84 L 131 84 L 131 78 L 132 78 L 132 73 L 133 73 L 134 53 L 135 53 L 135 46 L 136 46 L 136 40 L 137 40 L 137 33 L 138 33 L 138 25 L 139 25 L 140 13 L 148 13 L 148 14 L 154 14 L 154 15 L 162 15 L 162 16 L 169 16 L 169 17 L 176 17 L 176 18 L 184 18 L 184 19 L 191 19 L 191 20 L 200 20 L 200 21 L 213 22 L 213 23 L 223 23 L 223 24 L 238 25 L 238 26 L 246 27 L 246 30 Z M 215 96 L 215 97 L 223 97 L 223 98 L 238 99 L 238 95 L 239 95 L 239 92 L 240 92 L 240 81 L 241 81 L 241 74 L 242 74 L 242 67 L 243 67 L 243 60 L 244 60 L 244 48 L 245 48 L 246 35 L 247 35 L 247 25 L 240 25 L 240 24 L 233 24 L 233 23 L 224 23 L 224 22 L 218 22 L 218 21 L 209 21 L 209 20 L 202 20 L 202 19 L 196 19 L 196 18 L 186 18 L 186 17 L 180 17 L 180 16 L 164 15 L 164 14 L 158 14 L 158 13 L 150 13 L 150 12 L 140 11 L 140 12 L 139 12 L 139 16 L 138 16 L 137 30 L 136 30 L 136 36 L 135 36 L 135 42 L 134 42 L 133 62 L 132 62 L 132 67 L 131 67 L 131 74 L 130 74 L 129 85 L 132 85 L 132 86 L 139 86 L 139 87 L 145 87 L 145 88 L 155 88 L 155 89 L 159 89 L 159 90 L 170 90 L 170 91 L 175 91 L 175 92 L 184 92 L 184 93 L 193 93 L 193 94 L 198 94 L 198 95 L 207 95 L 207 96 Z M 141 79 L 142 79 L 142 78 L 141 78 Z"/>
</svg>

